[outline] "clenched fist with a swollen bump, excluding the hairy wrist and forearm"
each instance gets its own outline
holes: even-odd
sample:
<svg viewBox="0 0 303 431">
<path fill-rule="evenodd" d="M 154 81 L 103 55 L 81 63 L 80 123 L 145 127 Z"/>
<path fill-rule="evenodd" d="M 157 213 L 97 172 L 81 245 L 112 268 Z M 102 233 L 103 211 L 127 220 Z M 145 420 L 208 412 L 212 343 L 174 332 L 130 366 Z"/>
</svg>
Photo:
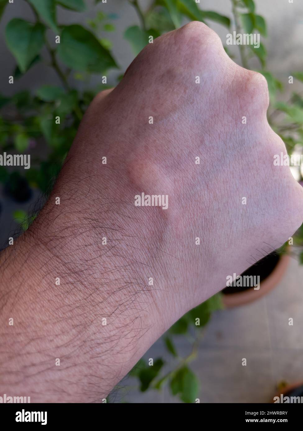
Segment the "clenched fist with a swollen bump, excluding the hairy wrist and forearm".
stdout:
<svg viewBox="0 0 303 431">
<path fill-rule="evenodd" d="M 146 277 L 167 290 L 179 315 L 280 247 L 303 221 L 302 187 L 287 166 L 274 166 L 286 149 L 267 108 L 265 78 L 236 65 L 214 31 L 191 22 L 148 45 L 83 122 L 79 152 L 92 149 L 84 157 L 93 154 L 107 184 L 117 176 L 120 190 L 108 198 L 122 200 L 132 219 L 147 217 L 152 232 L 144 231 L 140 253 L 150 248 L 153 270 Z M 108 169 L 100 168 L 102 156 Z M 167 195 L 168 209 L 135 207 L 141 192 Z"/>
</svg>

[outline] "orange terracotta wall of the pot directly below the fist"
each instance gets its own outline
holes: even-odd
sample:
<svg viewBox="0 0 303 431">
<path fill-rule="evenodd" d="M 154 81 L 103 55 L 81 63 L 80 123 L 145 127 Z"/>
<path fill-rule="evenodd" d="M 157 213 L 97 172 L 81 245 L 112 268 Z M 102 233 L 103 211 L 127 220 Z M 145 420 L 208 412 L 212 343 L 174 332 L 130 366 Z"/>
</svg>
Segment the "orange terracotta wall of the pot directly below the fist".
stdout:
<svg viewBox="0 0 303 431">
<path fill-rule="evenodd" d="M 254 288 L 251 287 L 239 293 L 223 294 L 222 300 L 224 306 L 226 308 L 230 308 L 244 305 L 268 294 L 268 292 L 272 290 L 283 277 L 287 269 L 288 262 L 289 256 L 287 254 L 282 254 L 273 271 L 268 275 L 268 277 L 261 281 L 259 290 L 254 290 Z"/>
</svg>

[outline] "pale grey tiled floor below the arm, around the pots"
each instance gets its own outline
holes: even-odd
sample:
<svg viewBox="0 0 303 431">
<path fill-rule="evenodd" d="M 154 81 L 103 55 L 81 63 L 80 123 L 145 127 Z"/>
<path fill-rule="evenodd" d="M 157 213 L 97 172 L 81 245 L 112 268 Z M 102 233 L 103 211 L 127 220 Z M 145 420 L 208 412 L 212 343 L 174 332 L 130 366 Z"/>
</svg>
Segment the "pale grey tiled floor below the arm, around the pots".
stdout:
<svg viewBox="0 0 303 431">
<path fill-rule="evenodd" d="M 290 259 L 282 281 L 261 300 L 218 311 L 207 326 L 197 359 L 191 362 L 200 381 L 201 403 L 268 403 L 281 381 L 303 381 L 303 266 Z M 293 326 L 288 319 L 293 318 Z M 185 337 L 175 337 L 180 355 L 188 354 Z M 158 340 L 145 357 L 171 356 Z M 242 358 L 247 365 L 242 366 Z M 141 394 L 128 378 L 116 402 L 178 403 L 154 390 Z"/>
</svg>

